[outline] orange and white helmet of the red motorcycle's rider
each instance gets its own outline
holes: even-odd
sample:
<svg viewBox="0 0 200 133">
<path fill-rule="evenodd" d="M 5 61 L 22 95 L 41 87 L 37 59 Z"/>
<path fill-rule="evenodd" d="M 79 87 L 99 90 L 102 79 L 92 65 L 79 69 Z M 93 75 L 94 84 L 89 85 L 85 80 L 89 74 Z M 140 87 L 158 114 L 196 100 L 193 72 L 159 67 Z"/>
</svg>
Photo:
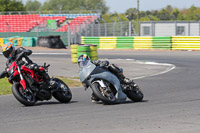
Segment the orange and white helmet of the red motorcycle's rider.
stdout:
<svg viewBox="0 0 200 133">
<path fill-rule="evenodd" d="M 2 53 L 4 57 L 11 59 L 15 54 L 15 46 L 11 42 L 3 44 Z"/>
</svg>

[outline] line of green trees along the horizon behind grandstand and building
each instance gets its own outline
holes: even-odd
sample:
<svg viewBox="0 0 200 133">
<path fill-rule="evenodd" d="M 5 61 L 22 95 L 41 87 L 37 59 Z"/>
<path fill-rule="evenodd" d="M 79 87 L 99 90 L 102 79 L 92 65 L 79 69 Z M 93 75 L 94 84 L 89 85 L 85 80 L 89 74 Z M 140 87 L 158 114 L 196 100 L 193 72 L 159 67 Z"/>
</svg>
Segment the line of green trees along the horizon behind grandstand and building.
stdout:
<svg viewBox="0 0 200 133">
<path fill-rule="evenodd" d="M 0 0 L 0 12 L 7 11 L 71 11 L 71 10 L 101 10 L 102 18 L 106 22 L 127 21 L 137 19 L 137 9 L 129 8 L 124 13 L 109 13 L 105 0 L 47 0 L 43 4 L 38 0 Z M 200 7 L 192 5 L 188 9 L 178 9 L 168 5 L 160 10 L 140 11 L 140 21 L 166 21 L 166 20 L 199 20 Z"/>
</svg>

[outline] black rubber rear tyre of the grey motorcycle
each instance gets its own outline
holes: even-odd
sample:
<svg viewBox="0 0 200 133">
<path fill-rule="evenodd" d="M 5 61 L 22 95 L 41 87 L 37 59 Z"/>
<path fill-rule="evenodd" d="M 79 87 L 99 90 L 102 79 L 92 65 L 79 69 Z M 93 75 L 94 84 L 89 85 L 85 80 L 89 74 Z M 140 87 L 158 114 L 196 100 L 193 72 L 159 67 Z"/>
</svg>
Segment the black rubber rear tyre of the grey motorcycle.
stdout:
<svg viewBox="0 0 200 133">
<path fill-rule="evenodd" d="M 125 93 L 126 93 L 127 97 L 134 102 L 141 102 L 143 100 L 143 97 L 144 97 L 144 94 L 143 94 L 143 92 L 141 91 L 140 88 L 138 89 L 138 93 L 136 93 L 133 90 L 128 90 Z"/>
</svg>

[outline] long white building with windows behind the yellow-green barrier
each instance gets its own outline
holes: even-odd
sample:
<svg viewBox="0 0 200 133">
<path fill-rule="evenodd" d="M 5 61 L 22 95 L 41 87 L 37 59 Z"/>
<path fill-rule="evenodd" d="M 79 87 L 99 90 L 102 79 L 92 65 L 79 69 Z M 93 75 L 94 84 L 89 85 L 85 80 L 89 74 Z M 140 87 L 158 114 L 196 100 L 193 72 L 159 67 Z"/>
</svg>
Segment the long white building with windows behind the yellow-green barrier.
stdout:
<svg viewBox="0 0 200 133">
<path fill-rule="evenodd" d="M 140 23 L 141 36 L 200 36 L 200 21 L 148 21 Z"/>
</svg>

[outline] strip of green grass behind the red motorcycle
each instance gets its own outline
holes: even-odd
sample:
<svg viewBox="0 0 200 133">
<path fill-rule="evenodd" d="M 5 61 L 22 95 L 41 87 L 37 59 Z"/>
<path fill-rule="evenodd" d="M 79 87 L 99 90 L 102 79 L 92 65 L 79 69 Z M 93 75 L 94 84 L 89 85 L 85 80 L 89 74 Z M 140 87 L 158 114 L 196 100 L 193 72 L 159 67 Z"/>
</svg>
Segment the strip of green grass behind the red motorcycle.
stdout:
<svg viewBox="0 0 200 133">
<path fill-rule="evenodd" d="M 56 76 L 56 78 L 61 79 L 63 82 L 65 82 L 69 88 L 73 88 L 73 87 L 81 87 L 82 84 L 79 81 L 79 78 L 75 77 L 75 78 L 66 78 L 66 77 L 59 77 Z M 4 79 L 0 79 L 0 95 L 7 95 L 7 94 L 11 94 L 11 87 L 12 84 L 10 84 L 8 82 L 7 78 Z"/>
</svg>

